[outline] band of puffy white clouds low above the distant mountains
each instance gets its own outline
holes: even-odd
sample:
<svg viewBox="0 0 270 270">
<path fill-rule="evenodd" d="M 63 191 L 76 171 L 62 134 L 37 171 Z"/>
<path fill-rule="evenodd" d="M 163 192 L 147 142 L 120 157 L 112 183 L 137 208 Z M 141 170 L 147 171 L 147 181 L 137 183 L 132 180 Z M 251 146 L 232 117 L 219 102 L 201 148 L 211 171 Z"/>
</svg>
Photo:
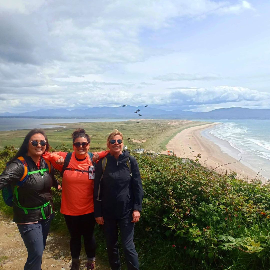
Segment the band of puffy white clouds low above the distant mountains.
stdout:
<svg viewBox="0 0 270 270">
<path fill-rule="evenodd" d="M 82 109 L 93 106 L 120 106 L 122 104 L 139 106 L 148 104 L 149 106 L 167 110 L 191 109 L 205 111 L 219 107 L 266 106 L 265 100 L 270 100 L 270 93 L 236 86 L 168 90 L 161 95 L 160 93 L 141 92 L 138 94 L 128 90 L 113 89 L 111 85 L 106 83 L 101 88 L 87 87 L 91 83 L 85 83 L 85 85 L 80 85 L 80 83 L 69 84 L 68 86 L 51 85 L 46 89 L 42 86 L 35 95 L 28 92 L 27 95 L 20 99 L 20 104 L 25 108 L 24 111 L 29 111 L 30 107 L 31 110 L 39 109 L 41 107 L 40 102 L 46 104 L 47 109 L 58 107 Z M 50 93 L 50 96 L 40 97 L 40 94 L 46 91 Z M 18 95 L 0 95 L 0 107 L 4 109 L 2 112 L 10 111 L 8 108 L 10 108 L 11 104 L 18 106 Z"/>
</svg>

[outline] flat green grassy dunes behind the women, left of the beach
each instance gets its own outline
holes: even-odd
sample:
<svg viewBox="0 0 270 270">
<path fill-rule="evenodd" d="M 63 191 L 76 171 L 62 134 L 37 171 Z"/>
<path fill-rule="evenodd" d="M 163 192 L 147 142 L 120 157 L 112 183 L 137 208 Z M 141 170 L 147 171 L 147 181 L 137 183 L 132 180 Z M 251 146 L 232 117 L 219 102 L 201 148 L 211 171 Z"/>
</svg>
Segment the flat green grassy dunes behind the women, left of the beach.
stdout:
<svg viewBox="0 0 270 270">
<path fill-rule="evenodd" d="M 106 149 L 108 134 L 113 129 L 118 129 L 123 133 L 124 144 L 129 148 L 144 148 L 148 151 L 159 152 L 166 150 L 166 144 L 181 130 L 209 123 L 186 120 L 140 120 L 139 124 L 136 124 L 136 122 L 137 121 L 63 123 L 66 127 L 46 129 L 46 134 L 53 149 L 63 143 L 71 146 L 72 140 L 70 134 L 75 129 L 81 127 L 91 136 L 90 148 Z M 20 147 L 28 131 L 29 130 L 1 131 L 0 150 L 4 149 L 6 145 Z"/>
</svg>

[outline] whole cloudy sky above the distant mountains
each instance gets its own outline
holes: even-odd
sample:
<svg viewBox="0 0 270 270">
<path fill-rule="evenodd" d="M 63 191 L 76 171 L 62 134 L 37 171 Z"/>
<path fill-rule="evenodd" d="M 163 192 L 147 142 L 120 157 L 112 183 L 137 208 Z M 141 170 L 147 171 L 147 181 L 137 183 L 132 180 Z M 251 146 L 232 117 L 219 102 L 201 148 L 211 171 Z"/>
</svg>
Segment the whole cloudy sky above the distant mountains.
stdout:
<svg viewBox="0 0 270 270">
<path fill-rule="evenodd" d="M 0 3 L 0 113 L 270 109 L 268 0 Z"/>
</svg>

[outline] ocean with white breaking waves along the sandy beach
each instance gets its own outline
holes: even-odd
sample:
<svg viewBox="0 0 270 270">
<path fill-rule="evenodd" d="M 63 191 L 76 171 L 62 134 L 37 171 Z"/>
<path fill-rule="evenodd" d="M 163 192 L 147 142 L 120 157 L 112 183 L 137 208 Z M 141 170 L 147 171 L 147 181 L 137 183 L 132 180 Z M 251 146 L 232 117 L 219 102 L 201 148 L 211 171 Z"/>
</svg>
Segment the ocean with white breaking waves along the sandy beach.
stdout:
<svg viewBox="0 0 270 270">
<path fill-rule="evenodd" d="M 200 121 L 219 123 L 201 134 L 217 144 L 222 152 L 270 178 L 270 120 Z"/>
</svg>

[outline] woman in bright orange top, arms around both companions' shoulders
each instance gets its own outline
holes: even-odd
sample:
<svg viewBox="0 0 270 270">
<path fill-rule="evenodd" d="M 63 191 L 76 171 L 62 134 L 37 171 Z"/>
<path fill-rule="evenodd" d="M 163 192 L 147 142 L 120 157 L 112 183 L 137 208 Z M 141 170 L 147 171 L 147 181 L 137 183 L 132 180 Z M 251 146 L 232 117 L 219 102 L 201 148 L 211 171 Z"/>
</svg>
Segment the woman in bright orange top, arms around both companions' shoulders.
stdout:
<svg viewBox="0 0 270 270">
<path fill-rule="evenodd" d="M 90 137 L 85 133 L 85 130 L 77 129 L 71 136 L 73 139 L 74 151 L 68 166 L 63 171 L 60 212 L 65 217 L 66 225 L 70 233 L 70 252 L 72 257 L 70 270 L 79 270 L 82 236 L 87 255 L 86 269 L 90 270 L 96 269 L 93 203 L 95 168 L 88 155 Z M 102 151 L 96 153 L 93 156 L 93 159 L 102 158 L 106 156 L 108 152 L 109 151 Z M 63 164 L 68 153 L 55 152 L 46 153 L 45 155 L 57 170 L 62 171 L 63 165 L 59 165 L 52 160 L 55 154 L 62 156 L 62 158 L 59 159 L 59 162 L 60 164 Z"/>
</svg>

